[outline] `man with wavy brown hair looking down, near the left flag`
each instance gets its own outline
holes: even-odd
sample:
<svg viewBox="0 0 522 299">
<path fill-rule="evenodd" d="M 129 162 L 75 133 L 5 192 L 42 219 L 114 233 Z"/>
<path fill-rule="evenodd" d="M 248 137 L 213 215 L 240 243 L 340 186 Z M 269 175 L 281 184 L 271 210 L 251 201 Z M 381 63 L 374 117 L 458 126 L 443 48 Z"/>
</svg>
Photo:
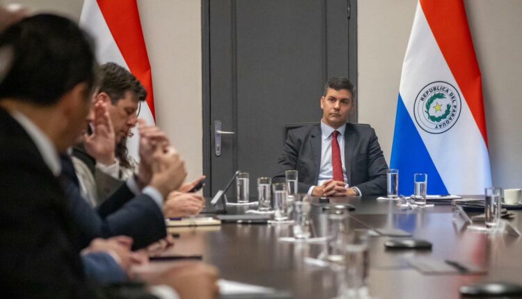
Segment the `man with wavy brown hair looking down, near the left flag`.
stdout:
<svg viewBox="0 0 522 299">
<path fill-rule="evenodd" d="M 98 74 L 100 82 L 97 84 L 93 101 L 97 106 L 103 104 L 107 112 L 106 115 L 98 114 L 97 119 L 94 115 L 88 120 L 93 124 L 93 134 L 84 136 L 83 143 L 74 147 L 72 158 L 79 177 L 81 193 L 93 206 L 104 202 L 135 173 L 141 176 L 140 172 L 146 171 L 147 167 L 146 163 L 138 164 L 127 155 L 125 144 L 130 129 L 138 122 L 136 111 L 139 109 L 139 103 L 144 102 L 147 96 L 145 88 L 133 74 L 116 63 L 105 63 L 100 67 Z M 143 140 L 168 143 L 163 132 L 157 127 L 146 126 L 143 122 L 139 125 L 139 133 L 142 137 L 142 161 L 152 156 L 143 155 L 142 149 L 146 146 L 142 143 Z M 193 215 L 203 209 L 204 200 L 201 195 L 186 193 L 200 179 L 182 186 L 179 190 L 182 192 L 174 192 L 166 197 L 166 217 Z"/>
</svg>

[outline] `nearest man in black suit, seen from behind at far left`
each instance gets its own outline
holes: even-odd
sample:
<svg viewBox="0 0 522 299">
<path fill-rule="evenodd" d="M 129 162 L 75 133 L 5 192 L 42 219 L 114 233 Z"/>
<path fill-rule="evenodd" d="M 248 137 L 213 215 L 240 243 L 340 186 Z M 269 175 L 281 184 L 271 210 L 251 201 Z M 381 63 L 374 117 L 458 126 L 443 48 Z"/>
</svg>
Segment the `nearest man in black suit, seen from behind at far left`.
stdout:
<svg viewBox="0 0 522 299">
<path fill-rule="evenodd" d="M 35 15 L 1 33 L 0 50 L 10 53 L 8 63 L 0 65 L 7 70 L 0 79 L 3 296 L 114 298 L 115 293 L 84 276 L 77 227 L 57 179 L 58 153 L 77 140 L 90 109 L 96 62 L 89 38 L 68 19 Z M 171 149 L 157 149 L 155 162 L 163 170 L 156 179 L 166 187 L 159 192 L 166 195 L 182 183 L 172 177 L 184 171 L 183 162 Z M 183 296 L 187 287 L 206 292 L 192 298 L 211 298 L 216 273 L 200 267 L 189 272 L 197 280 L 182 280 L 169 272 L 157 283 L 174 286 L 182 298 L 189 298 Z"/>
</svg>

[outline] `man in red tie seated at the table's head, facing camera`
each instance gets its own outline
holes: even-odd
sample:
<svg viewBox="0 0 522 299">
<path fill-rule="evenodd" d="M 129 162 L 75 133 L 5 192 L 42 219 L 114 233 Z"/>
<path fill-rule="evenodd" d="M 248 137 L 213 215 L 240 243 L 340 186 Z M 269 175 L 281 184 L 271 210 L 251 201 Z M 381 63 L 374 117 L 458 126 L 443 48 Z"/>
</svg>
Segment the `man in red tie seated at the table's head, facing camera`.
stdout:
<svg viewBox="0 0 522 299">
<path fill-rule="evenodd" d="M 354 86 L 332 78 L 321 97 L 321 124 L 288 131 L 274 181 L 298 170 L 298 192 L 321 196 L 386 194 L 386 169 L 374 129 L 347 123 L 354 108 Z"/>
</svg>

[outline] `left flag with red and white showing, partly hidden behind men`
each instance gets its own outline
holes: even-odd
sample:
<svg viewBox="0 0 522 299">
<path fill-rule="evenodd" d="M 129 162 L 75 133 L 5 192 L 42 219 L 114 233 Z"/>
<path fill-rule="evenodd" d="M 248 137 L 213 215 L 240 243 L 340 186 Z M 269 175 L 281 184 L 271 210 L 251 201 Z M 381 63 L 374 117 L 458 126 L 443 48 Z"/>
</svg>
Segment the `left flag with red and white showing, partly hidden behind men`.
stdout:
<svg viewBox="0 0 522 299">
<path fill-rule="evenodd" d="M 136 0 L 85 0 L 80 26 L 95 39 L 98 63 L 117 63 L 143 84 L 147 99 L 141 103 L 139 118 L 155 124 L 152 74 Z M 138 159 L 139 136 L 137 130 L 133 129 L 133 133 L 127 147 L 129 154 Z"/>
</svg>

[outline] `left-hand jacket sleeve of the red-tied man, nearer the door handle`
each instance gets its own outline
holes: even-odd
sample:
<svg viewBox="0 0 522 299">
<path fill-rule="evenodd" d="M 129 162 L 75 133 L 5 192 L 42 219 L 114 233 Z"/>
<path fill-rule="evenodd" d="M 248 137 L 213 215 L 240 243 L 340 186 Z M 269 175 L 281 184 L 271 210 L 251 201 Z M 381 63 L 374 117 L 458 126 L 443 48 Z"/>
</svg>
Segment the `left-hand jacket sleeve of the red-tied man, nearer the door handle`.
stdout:
<svg viewBox="0 0 522 299">
<path fill-rule="evenodd" d="M 284 183 L 286 181 L 285 170 L 297 169 L 300 148 L 301 140 L 296 138 L 294 130 L 288 131 L 285 145 L 283 146 L 283 153 L 279 156 L 277 161 L 276 175 L 272 178 L 272 183 Z M 313 185 L 299 182 L 297 183 L 297 192 L 308 193 L 311 186 Z"/>
</svg>

